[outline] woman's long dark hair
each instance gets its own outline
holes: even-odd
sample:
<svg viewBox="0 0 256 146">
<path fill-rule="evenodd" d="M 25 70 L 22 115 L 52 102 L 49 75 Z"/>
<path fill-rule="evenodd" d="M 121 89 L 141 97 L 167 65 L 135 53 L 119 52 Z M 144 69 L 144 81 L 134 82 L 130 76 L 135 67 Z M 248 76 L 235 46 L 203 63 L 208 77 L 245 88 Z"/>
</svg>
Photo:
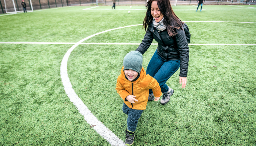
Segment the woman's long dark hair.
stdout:
<svg viewBox="0 0 256 146">
<path fill-rule="evenodd" d="M 165 17 L 163 19 L 163 24 L 165 25 L 168 35 L 174 36 L 177 33 L 174 31 L 174 28 L 182 29 L 181 20 L 174 14 L 172 6 L 169 0 L 149 0 L 147 2 L 147 14 L 143 21 L 143 27 L 147 31 L 148 24 L 153 20 L 153 16 L 151 15 L 151 4 L 153 1 L 157 1 L 158 8 L 161 14 Z"/>
</svg>

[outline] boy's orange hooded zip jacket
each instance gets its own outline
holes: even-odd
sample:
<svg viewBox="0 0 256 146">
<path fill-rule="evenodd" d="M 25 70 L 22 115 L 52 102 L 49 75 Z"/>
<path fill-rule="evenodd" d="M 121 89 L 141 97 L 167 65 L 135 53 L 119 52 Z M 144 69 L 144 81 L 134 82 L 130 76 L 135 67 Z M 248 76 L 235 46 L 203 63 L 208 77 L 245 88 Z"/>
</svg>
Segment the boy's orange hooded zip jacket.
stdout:
<svg viewBox="0 0 256 146">
<path fill-rule="evenodd" d="M 140 71 L 140 77 L 136 81 L 129 81 L 125 78 L 124 74 L 124 66 L 121 69 L 121 74 L 117 78 L 116 82 L 116 91 L 120 95 L 120 97 L 124 100 L 124 103 L 131 109 L 135 110 L 145 110 L 147 107 L 148 100 L 148 89 L 152 89 L 155 97 L 160 97 L 162 95 L 161 88 L 153 77 L 146 74 L 146 71 L 142 67 Z M 129 101 L 125 101 L 125 98 L 128 95 L 136 96 L 135 103 L 130 103 Z"/>
</svg>

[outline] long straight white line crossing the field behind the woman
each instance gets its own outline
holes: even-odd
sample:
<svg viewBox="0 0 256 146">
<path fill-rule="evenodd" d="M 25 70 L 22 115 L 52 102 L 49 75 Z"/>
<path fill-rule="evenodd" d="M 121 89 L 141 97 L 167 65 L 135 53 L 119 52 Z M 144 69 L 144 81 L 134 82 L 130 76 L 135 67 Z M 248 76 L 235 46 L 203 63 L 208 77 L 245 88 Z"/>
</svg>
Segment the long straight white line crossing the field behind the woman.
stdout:
<svg viewBox="0 0 256 146">
<path fill-rule="evenodd" d="M 52 43 L 52 42 L 0 42 L 0 44 L 50 44 L 50 45 L 75 45 L 77 43 Z M 79 45 L 140 45 L 140 43 L 79 43 Z M 151 43 L 151 45 L 158 45 Z M 188 45 L 197 46 L 256 46 L 256 44 L 219 44 L 219 43 L 189 43 Z"/>
</svg>

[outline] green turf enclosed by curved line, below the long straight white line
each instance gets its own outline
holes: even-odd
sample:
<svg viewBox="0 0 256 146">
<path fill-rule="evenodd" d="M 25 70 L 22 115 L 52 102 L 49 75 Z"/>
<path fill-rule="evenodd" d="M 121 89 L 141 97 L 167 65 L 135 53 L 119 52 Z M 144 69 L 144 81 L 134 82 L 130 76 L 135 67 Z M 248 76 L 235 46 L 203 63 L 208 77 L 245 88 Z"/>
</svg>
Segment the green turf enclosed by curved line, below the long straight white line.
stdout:
<svg viewBox="0 0 256 146">
<path fill-rule="evenodd" d="M 68 61 L 69 77 L 93 114 L 124 140 L 127 115 L 114 89 L 123 57 L 135 45 L 82 45 Z M 143 55 L 146 69 L 156 46 Z M 254 46 L 191 46 L 188 84 L 177 71 L 166 105 L 148 102 L 134 145 L 253 145 L 256 132 Z M 241 55 L 243 54 L 243 55 Z M 214 67 L 216 66 L 216 67 Z M 147 142 L 147 144 L 145 143 Z"/>
</svg>

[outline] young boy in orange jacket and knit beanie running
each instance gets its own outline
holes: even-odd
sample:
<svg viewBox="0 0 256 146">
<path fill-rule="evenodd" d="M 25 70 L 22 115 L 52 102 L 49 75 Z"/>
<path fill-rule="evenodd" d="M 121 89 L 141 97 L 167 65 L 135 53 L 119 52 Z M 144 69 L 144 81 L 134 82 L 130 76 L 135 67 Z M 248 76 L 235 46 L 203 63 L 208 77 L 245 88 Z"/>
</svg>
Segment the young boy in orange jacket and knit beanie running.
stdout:
<svg viewBox="0 0 256 146">
<path fill-rule="evenodd" d="M 125 145 L 133 144 L 138 120 L 148 101 L 148 89 L 152 89 L 155 101 L 162 95 L 161 88 L 153 77 L 146 74 L 142 67 L 142 54 L 131 51 L 124 57 L 121 74 L 117 78 L 116 91 L 124 100 L 123 112 L 128 115 L 125 130 Z"/>
</svg>

